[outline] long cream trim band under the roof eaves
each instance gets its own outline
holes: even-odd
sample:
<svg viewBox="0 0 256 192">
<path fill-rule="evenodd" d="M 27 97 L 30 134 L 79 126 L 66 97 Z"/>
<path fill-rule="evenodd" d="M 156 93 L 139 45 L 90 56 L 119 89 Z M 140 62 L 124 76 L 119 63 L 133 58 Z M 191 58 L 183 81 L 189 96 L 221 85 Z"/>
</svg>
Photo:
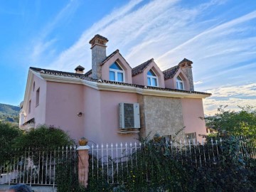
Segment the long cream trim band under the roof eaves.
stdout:
<svg viewBox="0 0 256 192">
<path fill-rule="evenodd" d="M 132 92 L 132 93 L 137 93 L 140 95 L 151 95 L 151 96 L 158 96 L 158 97 L 178 97 L 178 98 L 210 97 L 210 95 L 205 95 L 205 94 L 166 91 L 166 90 L 142 89 L 139 87 L 132 87 L 132 86 L 127 86 L 127 85 L 117 85 L 114 83 L 111 84 L 111 83 L 105 83 L 105 82 L 92 82 L 89 80 L 82 80 L 80 78 L 48 75 L 48 74 L 43 74 L 43 73 L 41 73 L 40 75 L 44 80 L 47 80 L 47 81 L 86 85 L 88 87 L 92 87 L 95 90 L 108 90 L 108 91 L 115 91 L 115 92 Z"/>
</svg>

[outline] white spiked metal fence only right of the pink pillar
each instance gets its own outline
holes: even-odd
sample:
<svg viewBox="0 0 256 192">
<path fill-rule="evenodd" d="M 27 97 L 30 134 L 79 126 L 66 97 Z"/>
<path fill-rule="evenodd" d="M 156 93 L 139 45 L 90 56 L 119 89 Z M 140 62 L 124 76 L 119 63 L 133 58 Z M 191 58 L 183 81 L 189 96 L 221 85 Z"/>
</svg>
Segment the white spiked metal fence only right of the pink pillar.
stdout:
<svg viewBox="0 0 256 192">
<path fill-rule="evenodd" d="M 154 171 L 154 161 L 144 165 L 143 156 L 145 154 L 161 151 L 165 156 L 171 156 L 181 164 L 191 164 L 191 166 L 216 166 L 220 163 L 220 156 L 223 153 L 223 140 L 210 140 L 210 142 L 196 143 L 196 140 L 183 140 L 180 142 L 157 143 L 120 143 L 92 145 L 90 154 L 90 179 L 105 180 L 107 183 L 124 183 L 130 176 L 130 172 L 137 169 L 146 171 L 146 180 L 149 181 Z M 154 150 L 152 150 L 154 149 Z M 152 150 L 152 151 L 147 151 Z M 244 158 L 256 159 L 255 142 L 240 141 L 240 155 Z M 138 159 L 138 156 L 140 159 Z"/>
</svg>

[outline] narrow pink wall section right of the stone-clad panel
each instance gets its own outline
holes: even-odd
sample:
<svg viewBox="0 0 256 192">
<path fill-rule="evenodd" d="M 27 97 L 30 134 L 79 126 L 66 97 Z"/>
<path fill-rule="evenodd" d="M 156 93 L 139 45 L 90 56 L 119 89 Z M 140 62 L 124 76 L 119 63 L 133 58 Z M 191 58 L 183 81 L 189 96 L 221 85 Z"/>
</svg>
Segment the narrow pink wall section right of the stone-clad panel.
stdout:
<svg viewBox="0 0 256 192">
<path fill-rule="evenodd" d="M 202 137 L 198 134 L 206 134 L 206 122 L 199 117 L 204 117 L 203 101 L 201 99 L 181 99 L 183 124 L 186 126 L 185 133 L 196 132 L 198 142 L 202 142 Z"/>
</svg>

